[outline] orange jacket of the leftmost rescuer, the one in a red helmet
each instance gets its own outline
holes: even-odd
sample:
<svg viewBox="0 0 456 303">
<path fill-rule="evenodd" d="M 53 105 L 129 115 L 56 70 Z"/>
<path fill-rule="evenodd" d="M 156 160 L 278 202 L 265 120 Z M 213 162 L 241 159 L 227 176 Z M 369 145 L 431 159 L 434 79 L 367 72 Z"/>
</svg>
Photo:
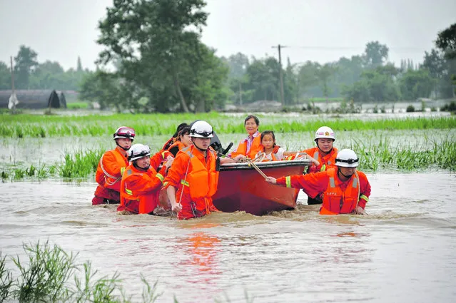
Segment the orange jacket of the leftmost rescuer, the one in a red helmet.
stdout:
<svg viewBox="0 0 456 303">
<path fill-rule="evenodd" d="M 95 180 L 99 185 L 111 190 L 121 189 L 123 170 L 128 166 L 126 156 L 122 155 L 118 148 L 108 150 L 101 156 L 96 168 Z"/>
</svg>

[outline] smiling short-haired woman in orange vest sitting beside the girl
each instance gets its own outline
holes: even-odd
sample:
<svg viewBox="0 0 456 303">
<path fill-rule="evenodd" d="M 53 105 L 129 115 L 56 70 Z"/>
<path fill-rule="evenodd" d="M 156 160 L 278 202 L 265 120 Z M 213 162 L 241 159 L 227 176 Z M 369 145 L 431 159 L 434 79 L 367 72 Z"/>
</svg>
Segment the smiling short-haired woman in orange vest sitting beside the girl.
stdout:
<svg viewBox="0 0 456 303">
<path fill-rule="evenodd" d="M 231 158 L 237 155 L 243 155 L 250 159 L 254 159 L 258 151 L 261 149 L 261 136 L 258 128 L 260 120 L 255 115 L 248 115 L 244 120 L 244 128 L 248 133 L 247 138 L 240 140 L 238 148 L 231 153 Z"/>
</svg>

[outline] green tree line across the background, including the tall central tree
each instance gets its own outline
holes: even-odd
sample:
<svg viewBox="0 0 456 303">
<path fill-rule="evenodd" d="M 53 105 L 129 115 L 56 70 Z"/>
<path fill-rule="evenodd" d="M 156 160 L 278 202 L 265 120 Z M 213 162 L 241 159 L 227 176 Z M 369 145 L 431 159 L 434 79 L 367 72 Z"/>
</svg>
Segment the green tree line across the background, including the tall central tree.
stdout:
<svg viewBox="0 0 456 303">
<path fill-rule="evenodd" d="M 228 58 L 201 42 L 208 13 L 203 0 L 115 1 L 98 24 L 103 51 L 96 71 L 64 71 L 57 62 L 37 63 L 36 52 L 21 46 L 14 58 L 16 88 L 73 89 L 80 98 L 118 111 L 162 113 L 211 111 L 226 103 L 309 98 L 345 98 L 358 103 L 453 98 L 456 75 L 456 24 L 437 35 L 436 47 L 415 64 L 388 62 L 389 48 L 379 41 L 351 58 L 320 64 L 280 66 L 274 57 L 236 53 Z M 0 88 L 11 87 L 9 69 L 0 62 Z"/>
</svg>

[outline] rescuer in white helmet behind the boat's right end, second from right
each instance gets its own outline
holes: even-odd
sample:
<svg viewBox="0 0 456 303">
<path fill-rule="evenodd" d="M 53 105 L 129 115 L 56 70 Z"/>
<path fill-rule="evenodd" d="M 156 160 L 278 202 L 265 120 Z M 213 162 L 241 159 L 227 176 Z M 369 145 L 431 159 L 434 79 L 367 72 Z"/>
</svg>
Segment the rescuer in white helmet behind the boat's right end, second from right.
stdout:
<svg viewBox="0 0 456 303">
<path fill-rule="evenodd" d="M 333 147 L 335 141 L 334 131 L 328 126 L 322 126 L 315 132 L 316 148 L 303 150 L 302 153 L 307 153 L 310 157 L 318 161 L 319 165 L 309 167 L 308 173 L 324 172 L 328 168 L 335 168 L 335 156 L 338 154 L 338 149 Z M 321 204 L 320 197 L 313 199 L 308 197 L 307 204 Z"/>
</svg>

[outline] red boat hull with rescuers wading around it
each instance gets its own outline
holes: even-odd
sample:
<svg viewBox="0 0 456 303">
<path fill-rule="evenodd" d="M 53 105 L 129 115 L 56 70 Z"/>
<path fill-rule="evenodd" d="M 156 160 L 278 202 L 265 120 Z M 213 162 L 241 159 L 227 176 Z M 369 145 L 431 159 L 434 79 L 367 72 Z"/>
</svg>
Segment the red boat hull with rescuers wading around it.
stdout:
<svg viewBox="0 0 456 303">
<path fill-rule="evenodd" d="M 291 160 L 255 163 L 265 175 L 280 178 L 301 175 L 310 160 Z M 299 190 L 270 185 L 248 163 L 221 165 L 218 190 L 213 203 L 223 212 L 245 211 L 253 215 L 292 210 L 296 207 Z"/>
</svg>

